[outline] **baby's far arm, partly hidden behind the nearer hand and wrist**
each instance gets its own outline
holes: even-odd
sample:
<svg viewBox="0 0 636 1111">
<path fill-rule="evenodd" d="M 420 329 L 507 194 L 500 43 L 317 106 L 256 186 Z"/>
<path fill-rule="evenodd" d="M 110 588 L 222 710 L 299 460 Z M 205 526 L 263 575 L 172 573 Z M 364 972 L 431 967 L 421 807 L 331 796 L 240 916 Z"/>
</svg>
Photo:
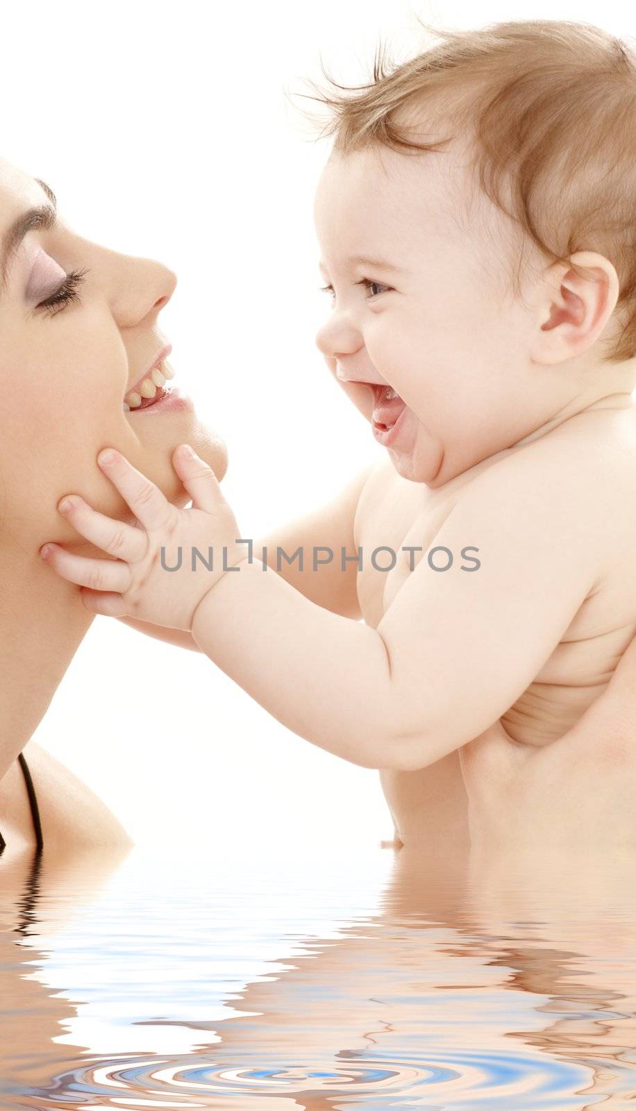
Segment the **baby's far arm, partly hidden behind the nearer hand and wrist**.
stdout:
<svg viewBox="0 0 636 1111">
<path fill-rule="evenodd" d="M 286 524 L 272 529 L 265 537 L 254 541 L 255 554 L 260 558 L 264 548 L 267 549 L 267 564 L 290 587 L 300 591 L 316 605 L 322 605 L 334 613 L 359 620 L 361 617 L 356 590 L 357 567 L 355 560 L 345 563 L 341 570 L 340 550 L 346 549 L 347 556 L 355 554 L 354 521 L 360 494 L 377 461 L 365 467 L 340 490 L 336 498 L 319 506 L 304 517 L 296 518 Z M 302 570 L 298 559 L 287 562 L 280 558 L 280 570 L 277 564 L 277 546 L 291 559 L 300 548 L 304 552 Z M 318 553 L 316 570 L 312 569 L 314 548 L 328 548 L 334 552 L 330 562 L 320 562 L 325 553 Z M 191 632 L 181 629 L 169 629 L 140 621 L 138 618 L 120 617 L 120 621 L 143 632 L 156 640 L 163 640 L 179 648 L 189 648 L 200 652 L 201 648 Z"/>
</svg>

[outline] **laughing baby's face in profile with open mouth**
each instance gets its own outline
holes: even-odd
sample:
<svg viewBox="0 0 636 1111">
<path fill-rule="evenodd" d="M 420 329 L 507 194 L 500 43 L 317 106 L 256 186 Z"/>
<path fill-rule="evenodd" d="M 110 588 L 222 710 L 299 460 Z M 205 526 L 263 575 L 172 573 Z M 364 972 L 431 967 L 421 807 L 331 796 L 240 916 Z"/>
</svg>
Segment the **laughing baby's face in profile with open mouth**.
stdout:
<svg viewBox="0 0 636 1111">
<path fill-rule="evenodd" d="M 334 153 L 315 203 L 332 300 L 316 342 L 398 473 L 431 487 L 541 422 L 527 354 L 533 318 L 497 292 L 510 248 L 486 198 L 476 196 L 466 229 L 464 172 L 457 148 Z M 396 269 L 351 261 L 359 254 Z M 386 404 L 381 387 L 406 403 L 388 434 L 372 422 Z M 399 401 L 390 408 L 386 424 Z"/>
</svg>

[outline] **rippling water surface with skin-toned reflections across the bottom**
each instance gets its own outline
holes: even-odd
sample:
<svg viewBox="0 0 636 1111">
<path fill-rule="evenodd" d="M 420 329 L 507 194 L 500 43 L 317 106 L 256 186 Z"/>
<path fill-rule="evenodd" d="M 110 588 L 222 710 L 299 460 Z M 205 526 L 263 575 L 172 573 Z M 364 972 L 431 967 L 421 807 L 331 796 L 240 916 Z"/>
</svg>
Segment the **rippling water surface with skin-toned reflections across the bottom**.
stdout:
<svg viewBox="0 0 636 1111">
<path fill-rule="evenodd" d="M 629 861 L 135 850 L 0 879 L 2 1111 L 634 1105 Z"/>
</svg>

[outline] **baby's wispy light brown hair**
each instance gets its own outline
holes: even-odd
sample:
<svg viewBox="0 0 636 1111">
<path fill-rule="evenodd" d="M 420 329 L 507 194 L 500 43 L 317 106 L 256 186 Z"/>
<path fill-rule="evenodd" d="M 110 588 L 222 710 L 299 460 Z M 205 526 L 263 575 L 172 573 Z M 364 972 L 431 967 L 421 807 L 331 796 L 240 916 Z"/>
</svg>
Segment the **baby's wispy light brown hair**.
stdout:
<svg viewBox="0 0 636 1111">
<path fill-rule="evenodd" d="M 616 269 L 624 322 L 603 362 L 636 356 L 636 52 L 607 31 L 567 20 L 516 20 L 475 30 L 420 24 L 440 41 L 392 69 L 382 44 L 369 84 L 309 97 L 330 109 L 320 137 L 334 151 L 436 151 L 426 109 L 470 136 L 481 190 L 550 261 L 596 251 Z M 355 93 L 350 96 L 350 93 Z M 304 94 L 300 94 L 304 96 Z M 520 267 L 520 261 L 519 261 Z M 520 296 L 519 268 L 514 290 Z"/>
</svg>

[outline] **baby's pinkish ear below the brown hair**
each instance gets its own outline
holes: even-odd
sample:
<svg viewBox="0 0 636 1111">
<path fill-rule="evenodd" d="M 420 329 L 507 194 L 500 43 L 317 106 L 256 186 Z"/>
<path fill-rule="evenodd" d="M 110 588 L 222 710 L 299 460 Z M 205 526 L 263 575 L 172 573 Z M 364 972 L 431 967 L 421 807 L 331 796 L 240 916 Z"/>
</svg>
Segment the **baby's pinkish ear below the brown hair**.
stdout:
<svg viewBox="0 0 636 1111">
<path fill-rule="evenodd" d="M 548 267 L 535 287 L 533 360 L 550 366 L 586 351 L 614 312 L 618 292 L 614 266 L 595 251 Z"/>
</svg>

